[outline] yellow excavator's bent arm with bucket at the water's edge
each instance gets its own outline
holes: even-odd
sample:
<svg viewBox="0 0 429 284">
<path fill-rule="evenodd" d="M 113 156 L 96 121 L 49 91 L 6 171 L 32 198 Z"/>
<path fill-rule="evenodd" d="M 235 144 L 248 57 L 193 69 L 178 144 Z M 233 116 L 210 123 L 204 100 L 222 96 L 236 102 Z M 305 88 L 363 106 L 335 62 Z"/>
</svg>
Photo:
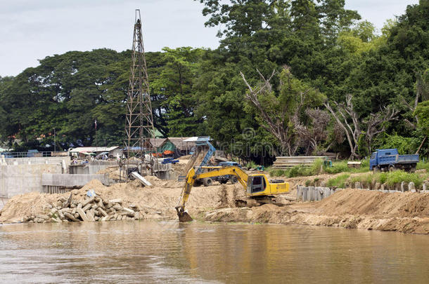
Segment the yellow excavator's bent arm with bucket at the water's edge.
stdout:
<svg viewBox="0 0 429 284">
<path fill-rule="evenodd" d="M 185 204 L 186 201 L 188 201 L 189 195 L 191 194 L 191 190 L 193 187 L 193 183 L 196 180 L 203 179 L 205 177 L 218 177 L 219 175 L 235 175 L 238 179 L 238 182 L 243 185 L 244 188 L 247 187 L 248 184 L 248 174 L 246 174 L 241 168 L 238 168 L 236 166 L 230 166 L 230 167 L 203 167 L 207 169 L 212 169 L 208 171 L 207 173 L 200 173 L 196 174 L 196 171 L 191 168 L 191 170 L 188 171 L 188 174 L 185 178 L 185 185 L 184 188 L 181 191 L 179 201 L 177 201 L 176 211 L 177 216 L 179 217 L 180 222 L 189 222 L 192 221 L 191 216 L 188 215 L 187 212 L 185 212 Z"/>
</svg>

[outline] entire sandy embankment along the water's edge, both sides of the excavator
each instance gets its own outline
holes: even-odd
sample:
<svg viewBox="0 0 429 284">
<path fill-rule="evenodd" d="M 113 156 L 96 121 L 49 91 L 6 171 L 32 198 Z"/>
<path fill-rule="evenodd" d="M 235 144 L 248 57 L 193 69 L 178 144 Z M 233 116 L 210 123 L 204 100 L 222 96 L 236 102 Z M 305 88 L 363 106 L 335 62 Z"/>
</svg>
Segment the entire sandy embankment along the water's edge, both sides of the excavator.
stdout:
<svg viewBox="0 0 429 284">
<path fill-rule="evenodd" d="M 105 187 L 94 180 L 79 189 L 75 198 L 83 199 L 87 190 L 94 189 L 103 199 L 122 198 L 124 206 L 137 205 L 143 219 L 177 220 L 174 206 L 182 183 L 156 177 L 148 177 L 148 180 L 156 186 L 141 187 L 134 181 Z M 294 191 L 290 195 L 293 196 Z M 187 209 L 194 219 L 209 222 L 307 224 L 429 234 L 429 194 L 345 189 L 314 203 L 235 208 L 235 198 L 243 194 L 239 184 L 194 187 Z M 15 196 L 0 211 L 0 223 L 20 222 L 25 215 L 44 214 L 59 196 L 68 195 L 30 193 Z"/>
</svg>

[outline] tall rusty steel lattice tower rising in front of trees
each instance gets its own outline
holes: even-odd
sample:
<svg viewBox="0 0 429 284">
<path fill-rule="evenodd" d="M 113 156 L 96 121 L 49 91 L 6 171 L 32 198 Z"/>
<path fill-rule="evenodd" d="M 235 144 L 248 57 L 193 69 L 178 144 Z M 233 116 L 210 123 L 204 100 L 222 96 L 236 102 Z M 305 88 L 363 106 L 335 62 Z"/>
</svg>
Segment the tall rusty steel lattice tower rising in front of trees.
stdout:
<svg viewBox="0 0 429 284">
<path fill-rule="evenodd" d="M 151 164 L 149 167 L 152 169 L 152 155 L 150 155 L 150 161 L 145 161 L 145 153 L 153 153 L 153 147 L 148 140 L 153 137 L 154 130 L 139 9 L 136 9 L 134 19 L 132 62 L 128 85 L 125 133 L 127 134 L 127 138 L 124 141 L 125 151 L 127 153 L 127 169 L 132 163 L 135 164 L 130 161 L 133 156 L 135 157 L 134 161 L 138 164 L 142 166 Z"/>
</svg>

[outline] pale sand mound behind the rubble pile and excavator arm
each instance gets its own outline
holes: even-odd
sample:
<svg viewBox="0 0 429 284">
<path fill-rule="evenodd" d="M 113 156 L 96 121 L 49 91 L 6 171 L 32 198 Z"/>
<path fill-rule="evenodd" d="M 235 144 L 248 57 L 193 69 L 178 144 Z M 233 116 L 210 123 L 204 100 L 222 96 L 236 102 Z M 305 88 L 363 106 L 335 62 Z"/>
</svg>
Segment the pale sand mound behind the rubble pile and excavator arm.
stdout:
<svg viewBox="0 0 429 284">
<path fill-rule="evenodd" d="M 104 186 L 99 180 L 92 180 L 82 189 L 73 191 L 77 201 L 84 201 L 87 191 L 94 190 L 103 200 L 122 199 L 125 207 L 136 205 L 146 209 L 146 219 L 177 219 L 174 207 L 177 205 L 183 182 L 159 180 L 157 177 L 146 177 L 153 186 L 143 187 L 139 180 Z M 236 184 L 214 185 L 212 187 L 195 187 L 186 203 L 191 215 L 233 204 L 233 192 Z M 227 194 L 225 199 L 225 193 Z M 0 223 L 20 222 L 25 215 L 43 215 L 49 212 L 49 205 L 56 203 L 65 194 L 41 194 L 32 192 L 11 198 L 0 211 Z"/>
</svg>

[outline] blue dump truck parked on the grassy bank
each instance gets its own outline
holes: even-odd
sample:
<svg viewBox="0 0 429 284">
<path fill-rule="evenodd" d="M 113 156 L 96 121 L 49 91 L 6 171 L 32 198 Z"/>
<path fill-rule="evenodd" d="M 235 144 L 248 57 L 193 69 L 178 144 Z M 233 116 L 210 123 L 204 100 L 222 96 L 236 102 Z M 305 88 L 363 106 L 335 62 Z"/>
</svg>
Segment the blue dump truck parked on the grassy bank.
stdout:
<svg viewBox="0 0 429 284">
<path fill-rule="evenodd" d="M 378 149 L 371 154 L 369 170 L 373 170 L 374 173 L 388 170 L 406 170 L 413 173 L 417 163 L 418 154 L 399 155 L 397 149 Z"/>
</svg>

